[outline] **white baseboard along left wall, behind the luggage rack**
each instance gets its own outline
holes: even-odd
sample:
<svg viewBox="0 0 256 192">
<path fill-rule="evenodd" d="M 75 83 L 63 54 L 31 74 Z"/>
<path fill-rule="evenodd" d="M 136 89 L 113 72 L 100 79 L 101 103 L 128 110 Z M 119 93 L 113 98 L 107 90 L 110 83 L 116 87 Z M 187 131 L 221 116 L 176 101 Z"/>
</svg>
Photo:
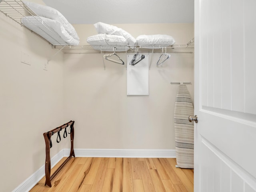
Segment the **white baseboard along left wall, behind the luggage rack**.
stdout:
<svg viewBox="0 0 256 192">
<path fill-rule="evenodd" d="M 63 150 L 61 150 L 51 158 L 51 167 L 54 167 L 63 157 Z M 12 192 L 28 192 L 44 177 L 44 175 L 45 170 L 43 165 Z"/>
</svg>

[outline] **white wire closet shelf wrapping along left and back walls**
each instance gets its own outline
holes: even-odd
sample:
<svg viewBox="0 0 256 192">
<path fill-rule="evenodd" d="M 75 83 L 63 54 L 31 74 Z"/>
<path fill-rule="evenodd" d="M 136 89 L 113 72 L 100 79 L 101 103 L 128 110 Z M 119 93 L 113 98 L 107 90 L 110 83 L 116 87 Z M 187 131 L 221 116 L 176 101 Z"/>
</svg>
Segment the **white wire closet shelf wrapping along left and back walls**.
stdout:
<svg viewBox="0 0 256 192">
<path fill-rule="evenodd" d="M 21 22 L 22 18 L 26 16 L 32 16 L 33 19 L 30 20 L 31 25 L 34 28 L 27 28 L 31 32 L 40 36 L 50 44 L 54 45 L 56 49 L 64 53 L 74 53 L 74 54 L 86 54 L 86 53 L 102 53 L 102 52 L 113 52 L 113 48 L 116 47 L 117 52 L 134 52 L 136 48 L 139 48 L 140 52 L 152 52 L 152 53 L 194 53 L 194 38 L 190 40 L 186 45 L 80 45 L 80 46 L 70 46 L 46 23 L 44 22 L 36 13 L 34 13 L 30 8 L 28 8 L 22 0 L 2 0 L 0 2 L 0 12 L 24 26 Z M 40 23 L 38 28 L 37 24 Z M 30 26 L 31 26 L 30 25 Z"/>
</svg>

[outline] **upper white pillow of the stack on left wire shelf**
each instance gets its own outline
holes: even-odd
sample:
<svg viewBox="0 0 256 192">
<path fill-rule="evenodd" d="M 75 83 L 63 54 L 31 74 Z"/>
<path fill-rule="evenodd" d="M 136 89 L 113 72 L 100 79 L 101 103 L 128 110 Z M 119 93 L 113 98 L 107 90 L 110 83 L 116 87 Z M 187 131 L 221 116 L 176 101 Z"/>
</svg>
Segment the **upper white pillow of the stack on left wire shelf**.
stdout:
<svg viewBox="0 0 256 192">
<path fill-rule="evenodd" d="M 49 6 L 44 6 L 44 5 L 40 5 L 40 4 L 36 4 L 36 3 L 24 1 L 24 0 L 23 2 L 38 16 L 59 21 L 63 25 L 63 27 L 66 29 L 68 34 L 70 34 L 76 40 L 79 40 L 79 37 L 74 27 L 68 22 L 68 20 L 58 10 Z"/>
</svg>

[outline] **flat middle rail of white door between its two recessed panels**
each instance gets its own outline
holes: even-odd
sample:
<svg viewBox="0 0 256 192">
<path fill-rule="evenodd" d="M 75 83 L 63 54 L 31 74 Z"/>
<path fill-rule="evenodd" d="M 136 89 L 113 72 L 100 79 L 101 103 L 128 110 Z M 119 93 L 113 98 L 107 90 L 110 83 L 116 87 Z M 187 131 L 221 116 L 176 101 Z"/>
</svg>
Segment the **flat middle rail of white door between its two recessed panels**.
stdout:
<svg viewBox="0 0 256 192">
<path fill-rule="evenodd" d="M 201 110 L 198 117 L 198 123 L 210 124 L 202 127 L 200 134 L 256 178 L 255 124 L 206 110 Z"/>
</svg>

